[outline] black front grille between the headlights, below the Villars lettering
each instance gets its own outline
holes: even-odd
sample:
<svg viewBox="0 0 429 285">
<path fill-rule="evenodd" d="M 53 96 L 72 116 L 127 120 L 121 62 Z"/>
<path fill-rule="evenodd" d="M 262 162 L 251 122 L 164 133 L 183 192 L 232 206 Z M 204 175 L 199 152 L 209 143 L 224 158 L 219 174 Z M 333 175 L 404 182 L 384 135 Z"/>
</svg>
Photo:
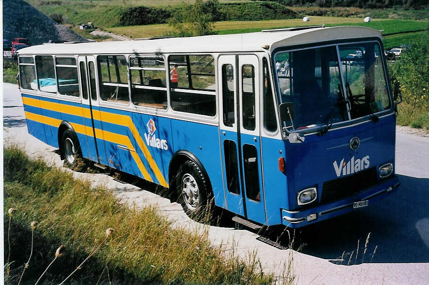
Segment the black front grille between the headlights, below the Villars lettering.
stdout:
<svg viewBox="0 0 429 285">
<path fill-rule="evenodd" d="M 323 183 L 320 203 L 326 204 L 357 195 L 375 184 L 377 184 L 375 167 L 347 177 L 326 181 Z"/>
</svg>

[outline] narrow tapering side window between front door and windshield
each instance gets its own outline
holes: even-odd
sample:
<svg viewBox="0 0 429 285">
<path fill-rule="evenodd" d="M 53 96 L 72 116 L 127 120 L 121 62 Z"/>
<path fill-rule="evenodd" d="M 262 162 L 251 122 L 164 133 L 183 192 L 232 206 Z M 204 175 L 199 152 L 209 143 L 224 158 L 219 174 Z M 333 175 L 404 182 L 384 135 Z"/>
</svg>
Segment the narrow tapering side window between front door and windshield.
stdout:
<svg viewBox="0 0 429 285">
<path fill-rule="evenodd" d="M 268 62 L 264 57 L 264 126 L 270 132 L 277 130 L 276 111 L 274 109 L 273 92 L 271 89 L 270 73 L 268 69 Z"/>
</svg>

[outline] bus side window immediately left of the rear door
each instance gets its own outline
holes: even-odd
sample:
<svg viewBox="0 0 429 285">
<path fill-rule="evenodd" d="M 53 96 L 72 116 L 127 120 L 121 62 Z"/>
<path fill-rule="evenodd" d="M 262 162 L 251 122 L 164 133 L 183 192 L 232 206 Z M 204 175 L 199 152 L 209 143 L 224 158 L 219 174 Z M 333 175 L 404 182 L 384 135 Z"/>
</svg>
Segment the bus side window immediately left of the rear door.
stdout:
<svg viewBox="0 0 429 285">
<path fill-rule="evenodd" d="M 79 79 L 76 59 L 71 57 L 56 57 L 58 93 L 79 97 Z"/>
</svg>

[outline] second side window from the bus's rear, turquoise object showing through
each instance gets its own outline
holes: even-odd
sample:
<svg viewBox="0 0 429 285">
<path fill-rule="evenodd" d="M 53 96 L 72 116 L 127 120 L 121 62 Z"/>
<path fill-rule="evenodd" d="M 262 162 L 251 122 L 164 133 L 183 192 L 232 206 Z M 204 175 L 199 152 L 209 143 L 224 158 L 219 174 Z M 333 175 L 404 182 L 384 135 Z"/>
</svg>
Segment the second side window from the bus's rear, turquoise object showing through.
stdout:
<svg viewBox="0 0 429 285">
<path fill-rule="evenodd" d="M 55 79 L 55 69 L 52 56 L 37 55 L 36 71 L 39 90 L 43 92 L 57 93 L 57 81 Z"/>
</svg>

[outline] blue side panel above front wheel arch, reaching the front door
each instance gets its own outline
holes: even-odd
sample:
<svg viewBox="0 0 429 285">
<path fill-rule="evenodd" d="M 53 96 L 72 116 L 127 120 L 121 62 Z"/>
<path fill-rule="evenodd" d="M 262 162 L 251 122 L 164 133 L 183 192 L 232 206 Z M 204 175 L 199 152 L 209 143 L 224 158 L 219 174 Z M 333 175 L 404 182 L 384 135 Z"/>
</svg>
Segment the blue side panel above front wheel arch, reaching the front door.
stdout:
<svg viewBox="0 0 429 285">
<path fill-rule="evenodd" d="M 187 150 L 195 155 L 209 176 L 216 206 L 225 208 L 219 127 L 181 120 L 171 120 L 174 151 Z"/>
</svg>

